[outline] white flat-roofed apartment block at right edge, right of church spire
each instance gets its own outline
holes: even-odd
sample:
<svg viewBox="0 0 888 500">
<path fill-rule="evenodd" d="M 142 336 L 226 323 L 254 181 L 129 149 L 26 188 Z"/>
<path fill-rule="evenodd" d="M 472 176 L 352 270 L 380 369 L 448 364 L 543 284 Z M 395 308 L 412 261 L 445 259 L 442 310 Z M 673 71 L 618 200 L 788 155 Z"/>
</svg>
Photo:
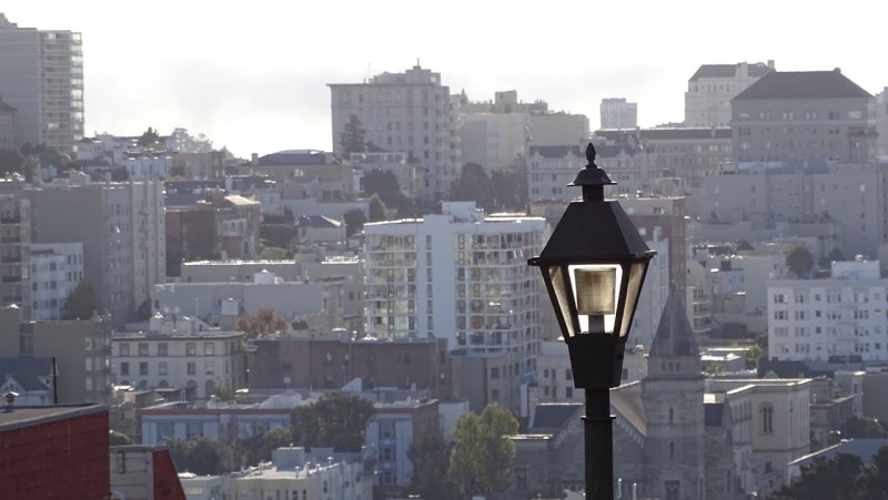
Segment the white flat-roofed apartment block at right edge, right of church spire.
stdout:
<svg viewBox="0 0 888 500">
<path fill-rule="evenodd" d="M 834 262 L 831 271 L 825 279 L 769 282 L 771 359 L 888 359 L 888 279 L 879 262 Z"/>
</svg>

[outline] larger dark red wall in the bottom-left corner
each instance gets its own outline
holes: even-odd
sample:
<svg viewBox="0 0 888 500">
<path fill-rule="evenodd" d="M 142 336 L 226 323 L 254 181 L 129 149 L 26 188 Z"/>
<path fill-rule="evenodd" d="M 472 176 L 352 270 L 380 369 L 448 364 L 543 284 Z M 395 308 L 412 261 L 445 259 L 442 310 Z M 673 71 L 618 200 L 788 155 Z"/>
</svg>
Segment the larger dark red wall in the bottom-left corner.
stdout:
<svg viewBox="0 0 888 500">
<path fill-rule="evenodd" d="M 0 432 L 0 497 L 105 499 L 108 412 Z"/>
</svg>

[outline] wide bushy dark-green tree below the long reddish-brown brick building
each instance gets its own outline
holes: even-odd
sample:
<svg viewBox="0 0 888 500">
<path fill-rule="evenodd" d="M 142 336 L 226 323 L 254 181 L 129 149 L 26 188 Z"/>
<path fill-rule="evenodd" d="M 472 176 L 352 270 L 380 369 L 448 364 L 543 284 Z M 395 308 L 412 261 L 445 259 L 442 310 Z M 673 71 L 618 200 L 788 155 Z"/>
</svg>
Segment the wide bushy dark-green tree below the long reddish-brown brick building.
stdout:
<svg viewBox="0 0 888 500">
<path fill-rule="evenodd" d="M 299 406 L 291 414 L 296 446 L 333 447 L 334 451 L 361 451 L 373 404 L 357 396 L 327 394 L 317 402 Z"/>
</svg>

